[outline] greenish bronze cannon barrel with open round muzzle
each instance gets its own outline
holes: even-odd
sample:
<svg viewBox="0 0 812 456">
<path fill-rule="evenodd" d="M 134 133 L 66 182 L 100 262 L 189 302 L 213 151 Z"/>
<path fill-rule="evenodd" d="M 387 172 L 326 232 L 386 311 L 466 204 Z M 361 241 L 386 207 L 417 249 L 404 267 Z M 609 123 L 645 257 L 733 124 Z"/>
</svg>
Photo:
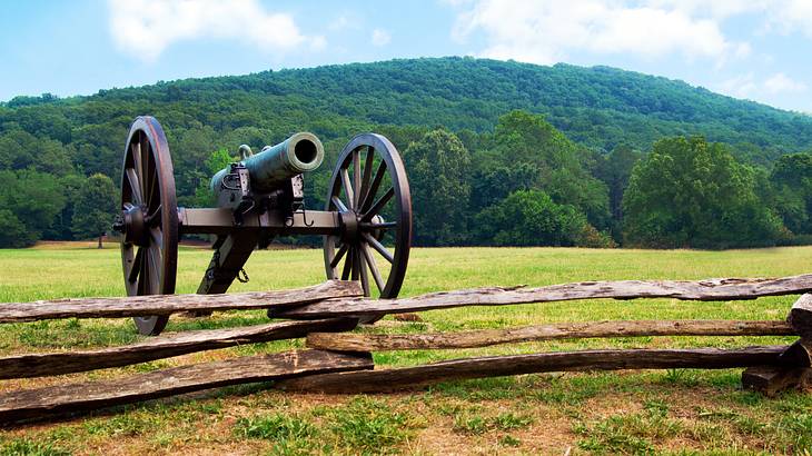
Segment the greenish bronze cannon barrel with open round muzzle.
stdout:
<svg viewBox="0 0 812 456">
<path fill-rule="evenodd" d="M 266 146 L 259 153 L 245 157 L 242 165 L 248 170 L 251 189 L 259 192 L 276 190 L 290 178 L 313 171 L 324 160 L 324 146 L 316 135 L 298 132 L 276 146 Z M 211 178 L 211 190 L 217 195 L 222 179 L 230 167 L 218 171 Z"/>
</svg>

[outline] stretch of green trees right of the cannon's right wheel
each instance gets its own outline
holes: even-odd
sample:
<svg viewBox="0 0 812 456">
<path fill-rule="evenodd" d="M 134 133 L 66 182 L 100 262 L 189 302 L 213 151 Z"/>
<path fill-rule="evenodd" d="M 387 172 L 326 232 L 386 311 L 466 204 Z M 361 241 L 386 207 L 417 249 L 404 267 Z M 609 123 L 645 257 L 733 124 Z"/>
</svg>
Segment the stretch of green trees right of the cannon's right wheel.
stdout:
<svg viewBox="0 0 812 456">
<path fill-rule="evenodd" d="M 720 249 L 812 240 L 809 152 L 762 167 L 694 136 L 663 138 L 647 153 L 625 145 L 595 153 L 542 116 L 514 111 L 469 148 L 438 129 L 405 157 L 418 245 Z"/>
</svg>

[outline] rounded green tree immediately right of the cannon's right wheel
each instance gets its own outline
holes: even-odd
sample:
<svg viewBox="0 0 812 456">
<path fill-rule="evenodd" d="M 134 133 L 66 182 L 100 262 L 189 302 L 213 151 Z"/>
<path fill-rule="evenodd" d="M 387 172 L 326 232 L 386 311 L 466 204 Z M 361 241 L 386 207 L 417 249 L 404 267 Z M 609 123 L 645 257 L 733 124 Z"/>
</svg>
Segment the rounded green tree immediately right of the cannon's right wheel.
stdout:
<svg viewBox="0 0 812 456">
<path fill-rule="evenodd" d="M 452 246 L 467 240 L 471 153 L 445 130 L 426 133 L 406 149 L 415 214 L 415 241 Z"/>
</svg>

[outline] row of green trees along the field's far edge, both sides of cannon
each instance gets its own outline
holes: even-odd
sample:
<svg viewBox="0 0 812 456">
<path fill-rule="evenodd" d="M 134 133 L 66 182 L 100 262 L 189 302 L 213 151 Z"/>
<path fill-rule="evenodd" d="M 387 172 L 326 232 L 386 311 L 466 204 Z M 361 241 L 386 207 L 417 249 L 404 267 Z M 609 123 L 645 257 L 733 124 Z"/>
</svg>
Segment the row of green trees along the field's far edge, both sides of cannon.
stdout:
<svg viewBox="0 0 812 456">
<path fill-rule="evenodd" d="M 384 130 L 407 145 L 417 246 L 732 248 L 812 240 L 812 153 L 762 167 L 702 137 L 663 138 L 646 153 L 625 145 L 601 153 L 526 111 L 503 116 L 482 135 Z M 328 155 L 334 159 L 339 148 L 328 142 Z M 208 178 L 234 159 L 218 149 L 191 171 L 200 178 L 177 172 L 179 200 L 211 206 Z M 323 205 L 329 168 L 307 176 L 308 207 Z M 28 163 L 0 171 L 0 245 L 109 230 L 118 198 L 112 179 L 60 169 Z"/>
</svg>

